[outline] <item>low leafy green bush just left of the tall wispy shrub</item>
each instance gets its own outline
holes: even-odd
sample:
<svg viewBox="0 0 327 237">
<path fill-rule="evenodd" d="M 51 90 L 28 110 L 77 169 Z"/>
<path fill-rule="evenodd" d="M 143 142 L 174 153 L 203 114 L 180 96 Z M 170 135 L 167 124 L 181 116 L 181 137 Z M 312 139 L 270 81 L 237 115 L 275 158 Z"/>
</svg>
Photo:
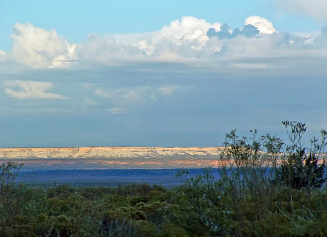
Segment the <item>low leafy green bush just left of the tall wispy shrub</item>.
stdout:
<svg viewBox="0 0 327 237">
<path fill-rule="evenodd" d="M 226 236 L 232 233 L 236 225 L 230 221 L 230 212 L 221 201 L 221 185 L 213 182 L 209 170 L 190 179 L 187 174 L 185 170 L 177 173 L 184 184 L 175 189 L 174 223 L 190 235 Z"/>
</svg>

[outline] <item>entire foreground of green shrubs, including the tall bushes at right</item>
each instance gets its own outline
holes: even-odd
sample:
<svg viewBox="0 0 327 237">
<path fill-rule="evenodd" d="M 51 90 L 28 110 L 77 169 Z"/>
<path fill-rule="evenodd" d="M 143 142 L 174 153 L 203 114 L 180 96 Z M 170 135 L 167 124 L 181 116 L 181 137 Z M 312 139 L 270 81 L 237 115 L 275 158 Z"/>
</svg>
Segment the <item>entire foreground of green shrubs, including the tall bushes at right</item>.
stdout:
<svg viewBox="0 0 327 237">
<path fill-rule="evenodd" d="M 327 132 L 302 146 L 305 124 L 271 135 L 226 135 L 220 179 L 210 170 L 172 190 L 146 183 L 50 188 L 16 184 L 22 164 L 0 166 L 0 236 L 327 236 Z"/>
</svg>

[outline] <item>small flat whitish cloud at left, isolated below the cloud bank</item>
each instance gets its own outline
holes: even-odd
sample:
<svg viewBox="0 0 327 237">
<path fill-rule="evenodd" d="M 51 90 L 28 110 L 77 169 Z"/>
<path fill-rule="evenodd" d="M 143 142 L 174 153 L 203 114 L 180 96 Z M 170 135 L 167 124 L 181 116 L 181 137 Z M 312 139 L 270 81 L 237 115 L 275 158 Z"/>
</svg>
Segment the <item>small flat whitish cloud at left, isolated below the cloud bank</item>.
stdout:
<svg viewBox="0 0 327 237">
<path fill-rule="evenodd" d="M 66 99 L 62 95 L 45 92 L 52 87 L 50 82 L 13 80 L 6 81 L 5 87 L 5 93 L 17 99 Z"/>
</svg>

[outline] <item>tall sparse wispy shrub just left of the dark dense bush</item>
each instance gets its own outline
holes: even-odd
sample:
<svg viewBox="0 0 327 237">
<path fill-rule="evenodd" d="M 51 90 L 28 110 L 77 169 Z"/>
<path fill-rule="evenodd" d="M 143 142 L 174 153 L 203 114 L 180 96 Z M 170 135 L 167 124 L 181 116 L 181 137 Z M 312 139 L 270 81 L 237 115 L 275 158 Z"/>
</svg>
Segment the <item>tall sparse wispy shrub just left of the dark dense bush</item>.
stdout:
<svg viewBox="0 0 327 237">
<path fill-rule="evenodd" d="M 235 130 L 226 134 L 218 159 L 226 207 L 243 231 L 256 235 L 260 223 L 270 216 L 279 189 L 271 181 L 283 142 L 270 134 L 258 138 L 256 130 L 251 133 L 251 138 L 240 138 Z"/>
</svg>

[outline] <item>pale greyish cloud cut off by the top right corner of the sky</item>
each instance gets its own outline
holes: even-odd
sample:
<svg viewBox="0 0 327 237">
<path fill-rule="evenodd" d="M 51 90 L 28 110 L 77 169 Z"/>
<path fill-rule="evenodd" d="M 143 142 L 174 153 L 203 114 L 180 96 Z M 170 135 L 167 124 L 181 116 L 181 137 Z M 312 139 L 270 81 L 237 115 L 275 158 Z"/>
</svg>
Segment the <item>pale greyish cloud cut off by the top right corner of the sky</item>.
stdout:
<svg viewBox="0 0 327 237">
<path fill-rule="evenodd" d="M 287 11 L 309 16 L 316 21 L 327 22 L 327 1 L 325 0 L 278 0 L 277 5 Z"/>
</svg>

